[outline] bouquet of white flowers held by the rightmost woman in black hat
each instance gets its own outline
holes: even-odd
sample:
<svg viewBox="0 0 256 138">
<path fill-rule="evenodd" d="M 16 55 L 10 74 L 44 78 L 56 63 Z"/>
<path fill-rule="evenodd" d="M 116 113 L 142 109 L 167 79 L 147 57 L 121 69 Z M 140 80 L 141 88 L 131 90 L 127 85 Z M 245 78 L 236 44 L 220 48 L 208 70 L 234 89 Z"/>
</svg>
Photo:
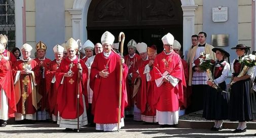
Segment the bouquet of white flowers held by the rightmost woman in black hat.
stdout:
<svg viewBox="0 0 256 138">
<path fill-rule="evenodd" d="M 248 69 L 250 67 L 253 67 L 256 65 L 256 56 L 255 55 L 246 55 L 244 56 L 240 61 L 239 61 L 242 65 L 244 65 L 243 70 L 239 73 L 239 75 L 237 77 L 242 77 L 243 75 L 245 75 L 245 73 L 248 71 Z M 235 83 L 234 81 L 232 81 L 230 83 L 230 85 L 232 85 L 233 83 Z"/>
</svg>

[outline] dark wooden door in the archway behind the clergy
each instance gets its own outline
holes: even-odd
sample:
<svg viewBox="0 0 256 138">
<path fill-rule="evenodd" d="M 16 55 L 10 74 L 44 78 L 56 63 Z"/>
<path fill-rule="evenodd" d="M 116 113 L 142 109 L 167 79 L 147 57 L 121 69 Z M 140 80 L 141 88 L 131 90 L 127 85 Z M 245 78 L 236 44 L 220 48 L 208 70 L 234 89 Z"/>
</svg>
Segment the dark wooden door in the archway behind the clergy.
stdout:
<svg viewBox="0 0 256 138">
<path fill-rule="evenodd" d="M 161 38 L 170 32 L 182 43 L 181 2 L 175 0 L 106 0 L 92 1 L 87 14 L 88 39 L 100 42 L 101 34 L 110 31 L 116 36 L 123 31 L 125 45 L 130 39 L 156 44 L 163 50 Z M 126 54 L 127 47 L 124 47 Z"/>
</svg>

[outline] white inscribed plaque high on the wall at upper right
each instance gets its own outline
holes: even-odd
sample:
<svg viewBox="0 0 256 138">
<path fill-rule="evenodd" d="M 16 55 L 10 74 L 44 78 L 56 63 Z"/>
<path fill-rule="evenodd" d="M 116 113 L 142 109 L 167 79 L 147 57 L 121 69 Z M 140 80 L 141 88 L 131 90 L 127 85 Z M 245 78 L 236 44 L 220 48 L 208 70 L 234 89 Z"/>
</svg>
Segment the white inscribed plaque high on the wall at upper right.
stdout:
<svg viewBox="0 0 256 138">
<path fill-rule="evenodd" d="M 228 7 L 212 8 L 213 22 L 226 22 L 228 20 Z"/>
</svg>

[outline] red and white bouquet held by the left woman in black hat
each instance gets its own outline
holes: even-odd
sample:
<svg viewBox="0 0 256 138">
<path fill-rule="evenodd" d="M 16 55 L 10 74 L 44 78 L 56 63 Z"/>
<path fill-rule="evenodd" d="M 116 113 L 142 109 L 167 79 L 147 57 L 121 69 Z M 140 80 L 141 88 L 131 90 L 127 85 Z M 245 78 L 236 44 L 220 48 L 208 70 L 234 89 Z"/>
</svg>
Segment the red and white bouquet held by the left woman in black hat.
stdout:
<svg viewBox="0 0 256 138">
<path fill-rule="evenodd" d="M 210 81 L 213 81 L 211 68 L 214 65 L 214 60 L 212 60 L 210 58 L 210 54 L 205 54 L 202 52 L 202 53 L 200 53 L 200 55 L 201 56 L 199 57 L 199 60 L 200 60 L 199 68 L 202 71 L 206 71 L 207 76 L 209 77 Z M 217 89 L 216 84 L 213 84 L 212 87 Z"/>
</svg>

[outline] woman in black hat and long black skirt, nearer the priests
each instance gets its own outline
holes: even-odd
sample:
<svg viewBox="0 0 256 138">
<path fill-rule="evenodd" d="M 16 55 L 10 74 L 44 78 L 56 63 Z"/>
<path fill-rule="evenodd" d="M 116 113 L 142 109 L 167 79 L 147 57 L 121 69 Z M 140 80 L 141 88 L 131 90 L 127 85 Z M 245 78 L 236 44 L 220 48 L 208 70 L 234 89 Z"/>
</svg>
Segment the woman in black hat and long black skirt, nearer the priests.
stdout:
<svg viewBox="0 0 256 138">
<path fill-rule="evenodd" d="M 218 131 L 222 129 L 222 120 L 228 119 L 229 95 L 222 90 L 226 91 L 227 88 L 225 80 L 229 75 L 230 64 L 225 59 L 230 55 L 221 48 L 213 48 L 212 51 L 216 54 L 217 60 L 211 69 L 213 81 L 207 81 L 203 117 L 207 120 L 214 120 L 211 130 Z M 214 88 L 216 86 L 218 89 Z"/>
</svg>

